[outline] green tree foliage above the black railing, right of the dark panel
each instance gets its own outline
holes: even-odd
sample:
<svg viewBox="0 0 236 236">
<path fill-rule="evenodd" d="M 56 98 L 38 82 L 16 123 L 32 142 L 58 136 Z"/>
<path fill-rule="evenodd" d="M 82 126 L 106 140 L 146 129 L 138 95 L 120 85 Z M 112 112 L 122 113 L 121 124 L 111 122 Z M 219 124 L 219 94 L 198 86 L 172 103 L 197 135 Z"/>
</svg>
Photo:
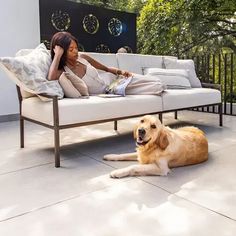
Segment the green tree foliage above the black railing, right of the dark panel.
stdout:
<svg viewBox="0 0 236 236">
<path fill-rule="evenodd" d="M 235 7 L 235 0 L 149 0 L 138 19 L 139 52 L 236 52 Z"/>
</svg>

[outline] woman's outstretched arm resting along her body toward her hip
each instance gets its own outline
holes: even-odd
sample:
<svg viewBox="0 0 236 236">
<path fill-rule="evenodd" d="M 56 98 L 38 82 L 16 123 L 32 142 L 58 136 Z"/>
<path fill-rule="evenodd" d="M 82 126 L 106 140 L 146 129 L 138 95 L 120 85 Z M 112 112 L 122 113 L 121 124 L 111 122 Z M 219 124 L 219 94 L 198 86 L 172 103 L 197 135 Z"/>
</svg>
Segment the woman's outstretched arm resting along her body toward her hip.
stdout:
<svg viewBox="0 0 236 236">
<path fill-rule="evenodd" d="M 120 70 L 118 68 L 115 68 L 115 67 L 107 67 L 103 64 L 101 64 L 100 62 L 94 60 L 92 57 L 86 55 L 86 54 L 80 54 L 80 56 L 82 58 L 84 58 L 85 60 L 87 60 L 92 66 L 94 66 L 96 69 L 99 69 L 99 70 L 104 70 L 106 72 L 110 72 L 112 74 L 115 74 L 115 75 L 123 75 L 125 77 L 129 77 L 131 76 L 132 74 L 128 71 L 124 71 L 124 70 Z"/>
</svg>

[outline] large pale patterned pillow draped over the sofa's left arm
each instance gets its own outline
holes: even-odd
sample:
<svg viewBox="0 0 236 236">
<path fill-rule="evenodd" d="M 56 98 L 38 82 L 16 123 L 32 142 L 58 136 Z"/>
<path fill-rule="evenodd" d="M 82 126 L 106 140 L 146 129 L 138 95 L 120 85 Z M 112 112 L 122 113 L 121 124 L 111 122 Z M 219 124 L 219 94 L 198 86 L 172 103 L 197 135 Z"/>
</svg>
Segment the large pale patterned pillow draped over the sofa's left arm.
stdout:
<svg viewBox="0 0 236 236">
<path fill-rule="evenodd" d="M 0 62 L 14 73 L 20 87 L 26 87 L 37 95 L 46 93 L 63 98 L 59 82 L 47 80 L 51 57 L 44 44 L 40 44 L 25 56 L 3 57 Z"/>
</svg>

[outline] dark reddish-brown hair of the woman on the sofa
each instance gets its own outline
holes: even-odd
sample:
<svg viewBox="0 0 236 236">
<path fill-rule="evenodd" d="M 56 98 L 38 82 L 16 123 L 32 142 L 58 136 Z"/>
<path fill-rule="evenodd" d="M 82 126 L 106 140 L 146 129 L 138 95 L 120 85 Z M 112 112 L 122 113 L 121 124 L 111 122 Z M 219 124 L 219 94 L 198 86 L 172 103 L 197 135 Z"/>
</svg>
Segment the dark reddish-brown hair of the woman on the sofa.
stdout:
<svg viewBox="0 0 236 236">
<path fill-rule="evenodd" d="M 71 33 L 68 33 L 68 32 L 58 32 L 58 33 L 56 33 L 56 34 L 54 34 L 52 36 L 51 45 L 50 45 L 52 60 L 53 60 L 53 58 L 55 56 L 55 53 L 54 53 L 53 49 L 55 48 L 56 45 L 58 45 L 58 46 L 60 46 L 60 47 L 62 47 L 64 49 L 64 53 L 61 56 L 61 60 L 59 62 L 59 66 L 58 66 L 59 70 L 63 69 L 63 67 L 66 64 L 66 53 L 67 53 L 67 50 L 68 50 L 72 40 L 75 41 L 75 43 L 78 46 L 77 39 Z"/>
</svg>

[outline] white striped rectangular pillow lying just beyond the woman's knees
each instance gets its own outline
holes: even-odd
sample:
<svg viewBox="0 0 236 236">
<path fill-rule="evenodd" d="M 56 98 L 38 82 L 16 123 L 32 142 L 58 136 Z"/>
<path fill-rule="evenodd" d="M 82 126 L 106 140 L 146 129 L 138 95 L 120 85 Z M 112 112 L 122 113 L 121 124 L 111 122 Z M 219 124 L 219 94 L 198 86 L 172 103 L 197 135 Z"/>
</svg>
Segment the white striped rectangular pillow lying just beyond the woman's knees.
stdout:
<svg viewBox="0 0 236 236">
<path fill-rule="evenodd" d="M 144 68 L 144 74 L 157 76 L 168 89 L 191 88 L 188 70 Z"/>
</svg>

